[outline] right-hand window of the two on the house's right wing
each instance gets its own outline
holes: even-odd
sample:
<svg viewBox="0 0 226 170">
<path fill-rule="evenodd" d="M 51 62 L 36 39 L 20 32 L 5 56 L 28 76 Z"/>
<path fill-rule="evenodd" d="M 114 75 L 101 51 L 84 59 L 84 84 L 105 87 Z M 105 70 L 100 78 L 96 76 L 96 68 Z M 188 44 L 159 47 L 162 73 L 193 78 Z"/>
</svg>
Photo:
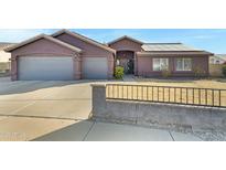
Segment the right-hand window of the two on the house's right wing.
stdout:
<svg viewBox="0 0 226 170">
<path fill-rule="evenodd" d="M 176 59 L 176 71 L 192 71 L 192 59 Z"/>
</svg>

